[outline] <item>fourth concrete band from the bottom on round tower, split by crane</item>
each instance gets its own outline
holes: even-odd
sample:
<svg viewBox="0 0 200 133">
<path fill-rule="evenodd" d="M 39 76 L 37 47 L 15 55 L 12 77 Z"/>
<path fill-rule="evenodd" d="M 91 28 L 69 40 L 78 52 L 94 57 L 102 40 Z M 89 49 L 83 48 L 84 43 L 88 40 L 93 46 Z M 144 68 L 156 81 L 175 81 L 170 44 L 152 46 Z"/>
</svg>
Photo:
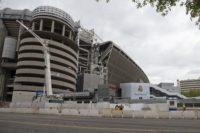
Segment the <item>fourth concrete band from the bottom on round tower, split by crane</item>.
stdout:
<svg viewBox="0 0 200 133">
<path fill-rule="evenodd" d="M 21 68 L 21 67 L 23 67 L 23 68 L 29 68 L 29 67 L 44 68 L 44 62 L 40 62 L 40 61 L 20 61 L 20 62 L 17 63 L 17 66 L 19 68 Z M 51 69 L 58 70 L 58 71 L 61 71 L 63 73 L 69 73 L 70 75 L 73 75 L 73 77 L 76 78 L 76 73 L 73 70 L 71 70 L 70 68 L 51 63 Z"/>
</svg>

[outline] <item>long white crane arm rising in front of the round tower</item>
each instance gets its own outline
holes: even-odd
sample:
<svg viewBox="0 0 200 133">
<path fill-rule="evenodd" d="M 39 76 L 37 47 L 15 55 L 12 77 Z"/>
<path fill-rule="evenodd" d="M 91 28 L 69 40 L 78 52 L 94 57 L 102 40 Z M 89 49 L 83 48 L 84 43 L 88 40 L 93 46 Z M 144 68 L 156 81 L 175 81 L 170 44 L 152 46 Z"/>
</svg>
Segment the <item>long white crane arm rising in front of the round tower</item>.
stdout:
<svg viewBox="0 0 200 133">
<path fill-rule="evenodd" d="M 45 60 L 45 88 L 47 89 L 47 96 L 52 96 L 52 84 L 51 84 L 51 68 L 50 68 L 50 51 L 48 47 L 48 41 L 42 39 L 35 34 L 31 29 L 26 27 L 22 22 L 16 20 L 22 27 L 24 27 L 29 33 L 31 33 L 43 46 L 44 60 Z"/>
</svg>

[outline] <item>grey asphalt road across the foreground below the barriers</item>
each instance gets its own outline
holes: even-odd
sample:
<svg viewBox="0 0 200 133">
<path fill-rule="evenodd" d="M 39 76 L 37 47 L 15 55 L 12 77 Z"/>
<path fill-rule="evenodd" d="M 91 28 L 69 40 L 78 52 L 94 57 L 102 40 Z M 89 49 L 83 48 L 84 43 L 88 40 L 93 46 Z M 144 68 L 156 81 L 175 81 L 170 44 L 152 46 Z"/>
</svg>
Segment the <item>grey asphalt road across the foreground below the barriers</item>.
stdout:
<svg viewBox="0 0 200 133">
<path fill-rule="evenodd" d="M 0 133 L 200 133 L 200 120 L 0 113 Z"/>
</svg>

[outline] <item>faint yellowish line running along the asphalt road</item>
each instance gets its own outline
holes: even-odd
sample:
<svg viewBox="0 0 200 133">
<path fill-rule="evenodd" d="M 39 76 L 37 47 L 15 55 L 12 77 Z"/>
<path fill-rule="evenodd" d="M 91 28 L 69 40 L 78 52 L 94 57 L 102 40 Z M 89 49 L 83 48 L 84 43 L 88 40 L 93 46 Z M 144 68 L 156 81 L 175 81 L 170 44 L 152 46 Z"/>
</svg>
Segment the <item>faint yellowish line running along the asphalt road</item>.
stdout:
<svg viewBox="0 0 200 133">
<path fill-rule="evenodd" d="M 55 124 L 42 124 L 42 123 L 34 123 L 34 122 L 20 122 L 20 121 L 12 121 L 12 120 L 0 120 L 0 122 L 8 122 L 15 123 L 21 125 L 32 125 L 32 126 L 47 126 L 47 127 L 60 127 L 60 128 L 79 128 L 79 129 L 90 129 L 90 130 L 104 130 L 104 131 L 137 131 L 137 132 L 187 132 L 187 133 L 199 133 L 199 130 L 174 130 L 174 129 L 143 129 L 143 128 L 112 128 L 112 127 L 91 127 L 91 126 L 75 126 L 75 125 L 55 125 Z"/>
</svg>

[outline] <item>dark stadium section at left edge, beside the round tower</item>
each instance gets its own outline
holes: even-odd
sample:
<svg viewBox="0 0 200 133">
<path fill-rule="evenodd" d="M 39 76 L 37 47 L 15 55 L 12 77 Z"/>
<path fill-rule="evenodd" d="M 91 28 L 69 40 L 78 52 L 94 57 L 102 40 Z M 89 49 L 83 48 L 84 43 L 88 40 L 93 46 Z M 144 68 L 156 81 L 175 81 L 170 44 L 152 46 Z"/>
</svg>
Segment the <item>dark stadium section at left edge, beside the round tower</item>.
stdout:
<svg viewBox="0 0 200 133">
<path fill-rule="evenodd" d="M 19 44 L 19 33 L 21 31 L 16 20 L 21 20 L 25 25 L 29 26 L 31 17 L 32 12 L 27 9 L 13 10 L 5 8 L 0 10 L 0 100 L 11 101 L 12 99 L 17 62 L 16 53 Z M 9 39 L 6 41 L 5 38 Z M 17 42 L 12 40 L 16 40 Z M 13 42 L 17 44 L 13 45 Z M 3 49 L 5 50 L 4 55 L 2 55 Z"/>
</svg>

